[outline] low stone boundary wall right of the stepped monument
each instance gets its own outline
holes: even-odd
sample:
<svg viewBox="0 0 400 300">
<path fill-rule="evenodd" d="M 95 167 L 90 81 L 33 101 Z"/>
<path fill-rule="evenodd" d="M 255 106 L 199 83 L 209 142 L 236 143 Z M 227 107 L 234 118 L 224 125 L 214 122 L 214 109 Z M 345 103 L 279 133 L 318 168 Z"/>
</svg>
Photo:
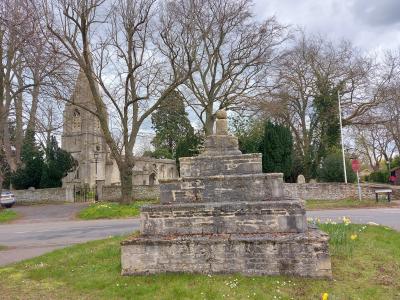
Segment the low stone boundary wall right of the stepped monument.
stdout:
<svg viewBox="0 0 400 300">
<path fill-rule="evenodd" d="M 388 185 L 361 185 L 362 199 L 375 199 L 375 189 L 390 188 L 393 190 L 393 198 L 400 199 L 400 188 Z M 285 183 L 285 195 L 289 197 L 299 197 L 303 200 L 340 200 L 358 199 L 356 184 L 345 183 Z"/>
</svg>

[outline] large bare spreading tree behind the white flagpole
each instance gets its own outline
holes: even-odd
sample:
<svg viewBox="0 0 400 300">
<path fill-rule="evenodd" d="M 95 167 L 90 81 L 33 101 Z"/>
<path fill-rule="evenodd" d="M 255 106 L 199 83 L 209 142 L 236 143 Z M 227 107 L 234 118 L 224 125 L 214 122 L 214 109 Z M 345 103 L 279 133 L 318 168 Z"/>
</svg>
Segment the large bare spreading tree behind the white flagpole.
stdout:
<svg viewBox="0 0 400 300">
<path fill-rule="evenodd" d="M 291 128 L 306 177 L 313 176 L 312 170 L 321 159 L 318 144 L 324 146 L 324 122 L 338 128 L 337 92 L 341 94 L 344 125 L 358 120 L 381 100 L 369 77 L 375 67 L 348 42 L 334 44 L 303 32 L 285 49 L 274 89 L 264 95 L 257 108 Z"/>
</svg>

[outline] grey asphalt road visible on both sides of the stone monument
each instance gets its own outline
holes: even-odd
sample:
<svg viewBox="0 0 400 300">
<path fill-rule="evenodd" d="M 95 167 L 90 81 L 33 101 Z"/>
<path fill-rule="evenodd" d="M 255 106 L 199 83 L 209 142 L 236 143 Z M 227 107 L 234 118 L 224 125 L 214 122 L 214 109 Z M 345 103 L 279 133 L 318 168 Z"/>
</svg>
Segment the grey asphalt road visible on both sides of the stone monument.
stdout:
<svg viewBox="0 0 400 300">
<path fill-rule="evenodd" d="M 23 218 L 0 225 L 0 265 L 35 257 L 75 243 L 129 234 L 139 229 L 138 219 L 77 221 L 82 205 L 41 205 L 16 207 Z M 308 211 L 322 221 L 350 217 L 353 223 L 375 222 L 400 231 L 400 208 Z"/>
</svg>

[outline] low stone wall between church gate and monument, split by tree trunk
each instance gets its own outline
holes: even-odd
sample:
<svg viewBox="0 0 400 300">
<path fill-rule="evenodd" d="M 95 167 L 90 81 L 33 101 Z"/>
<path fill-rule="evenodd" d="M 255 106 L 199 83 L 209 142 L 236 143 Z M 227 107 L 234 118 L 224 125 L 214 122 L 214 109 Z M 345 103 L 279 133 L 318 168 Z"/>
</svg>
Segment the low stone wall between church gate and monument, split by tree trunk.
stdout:
<svg viewBox="0 0 400 300">
<path fill-rule="evenodd" d="M 160 187 L 158 185 L 136 185 L 133 186 L 132 195 L 135 200 L 159 199 Z M 103 201 L 117 201 L 120 198 L 120 186 L 104 186 L 99 195 L 99 200 Z"/>
</svg>

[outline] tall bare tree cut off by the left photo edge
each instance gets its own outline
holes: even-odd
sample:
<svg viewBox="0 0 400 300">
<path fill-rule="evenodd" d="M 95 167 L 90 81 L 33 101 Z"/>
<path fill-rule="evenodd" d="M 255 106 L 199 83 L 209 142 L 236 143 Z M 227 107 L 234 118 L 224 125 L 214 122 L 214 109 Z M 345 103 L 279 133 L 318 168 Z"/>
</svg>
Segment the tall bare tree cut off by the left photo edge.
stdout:
<svg viewBox="0 0 400 300">
<path fill-rule="evenodd" d="M 18 166 L 18 150 L 14 151 L 11 142 L 10 123 L 19 122 L 15 129 L 19 134 L 16 141 L 22 141 L 22 93 L 33 86 L 23 80 L 26 67 L 24 53 L 32 42 L 35 18 L 32 15 L 32 2 L 29 0 L 0 3 L 0 149 L 3 155 L 1 170 L 15 171 Z M 17 152 L 17 153 L 16 153 Z M 0 172 L 0 186 L 4 174 Z"/>
</svg>

